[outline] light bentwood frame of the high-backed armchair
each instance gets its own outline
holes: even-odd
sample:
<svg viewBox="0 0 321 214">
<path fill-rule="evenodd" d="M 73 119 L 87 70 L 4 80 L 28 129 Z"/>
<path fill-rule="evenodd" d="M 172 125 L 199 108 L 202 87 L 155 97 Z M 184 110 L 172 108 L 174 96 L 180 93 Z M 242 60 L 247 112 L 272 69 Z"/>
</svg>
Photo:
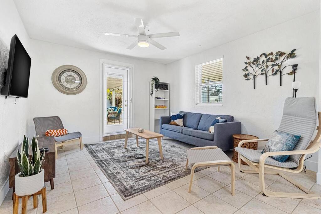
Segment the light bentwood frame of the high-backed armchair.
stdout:
<svg viewBox="0 0 321 214">
<path fill-rule="evenodd" d="M 259 163 L 252 162 L 242 156 L 240 153 L 238 153 L 238 160 L 239 160 L 239 169 L 241 172 L 244 173 L 258 173 L 259 179 L 260 179 L 260 187 L 264 195 L 268 197 L 281 197 L 281 198 L 303 198 L 303 199 L 321 199 L 321 195 L 312 193 L 307 188 L 302 186 L 299 182 L 293 180 L 291 177 L 278 173 L 278 172 L 269 172 L 265 173 L 265 167 L 271 168 L 271 169 L 277 169 L 282 170 L 285 172 L 292 172 L 292 173 L 299 173 L 303 169 L 304 159 L 307 156 L 307 154 L 314 153 L 318 151 L 321 148 L 321 112 L 318 112 L 318 126 L 317 126 L 317 135 L 314 138 L 313 141 L 310 142 L 309 146 L 306 150 L 292 150 L 292 151 L 278 151 L 278 152 L 265 152 L 260 156 Z M 255 139 L 255 140 L 244 140 L 239 142 L 239 147 L 242 146 L 243 143 L 246 142 L 254 142 L 254 141 L 268 141 L 268 139 Z M 299 166 L 296 169 L 290 169 L 290 168 L 282 168 L 282 167 L 276 167 L 276 166 L 270 166 L 265 164 L 265 159 L 267 157 L 273 156 L 273 155 L 302 155 L 299 160 Z M 241 168 L 241 160 L 244 160 L 250 167 L 253 168 L 253 170 L 243 170 Z M 290 183 L 294 184 L 295 186 L 299 187 L 302 191 L 305 193 L 282 193 L 282 192 L 272 192 L 265 189 L 265 182 L 264 182 L 264 175 L 265 174 L 276 174 L 280 175 Z"/>
</svg>

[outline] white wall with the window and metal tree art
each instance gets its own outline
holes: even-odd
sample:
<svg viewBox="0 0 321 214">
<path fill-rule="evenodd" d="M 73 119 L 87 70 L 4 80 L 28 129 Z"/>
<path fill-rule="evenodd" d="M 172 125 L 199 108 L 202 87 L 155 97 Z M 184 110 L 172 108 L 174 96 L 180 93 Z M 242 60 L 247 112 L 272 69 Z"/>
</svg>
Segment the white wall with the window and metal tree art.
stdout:
<svg viewBox="0 0 321 214">
<path fill-rule="evenodd" d="M 268 85 L 264 76 L 259 76 L 253 90 L 253 82 L 245 81 L 242 69 L 246 56 L 256 57 L 262 52 L 279 50 L 290 52 L 294 48 L 300 61 L 296 80 L 302 82 L 298 97 L 318 99 L 319 11 L 316 11 L 167 64 L 171 111 L 233 115 L 242 122 L 242 133 L 269 137 L 280 124 L 285 98 L 292 96 L 293 76 L 284 75 L 282 87 L 279 75 L 269 77 Z M 223 106 L 195 106 L 195 65 L 221 57 Z M 316 171 L 317 153 L 309 161 L 308 168 Z"/>
</svg>

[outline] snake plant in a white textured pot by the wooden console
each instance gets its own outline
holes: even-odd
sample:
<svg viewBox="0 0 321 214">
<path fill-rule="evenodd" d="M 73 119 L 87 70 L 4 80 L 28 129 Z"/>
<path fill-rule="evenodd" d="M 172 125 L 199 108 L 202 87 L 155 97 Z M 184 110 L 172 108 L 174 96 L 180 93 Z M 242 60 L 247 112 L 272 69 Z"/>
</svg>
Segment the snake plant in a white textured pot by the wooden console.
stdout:
<svg viewBox="0 0 321 214">
<path fill-rule="evenodd" d="M 31 141 L 32 155 L 29 156 L 29 139 L 23 137 L 21 153 L 17 150 L 17 162 L 20 173 L 15 175 L 15 193 L 19 196 L 37 193 L 44 186 L 45 170 L 41 168 L 45 161 L 45 152 L 40 152 L 38 138 L 33 136 Z"/>
</svg>

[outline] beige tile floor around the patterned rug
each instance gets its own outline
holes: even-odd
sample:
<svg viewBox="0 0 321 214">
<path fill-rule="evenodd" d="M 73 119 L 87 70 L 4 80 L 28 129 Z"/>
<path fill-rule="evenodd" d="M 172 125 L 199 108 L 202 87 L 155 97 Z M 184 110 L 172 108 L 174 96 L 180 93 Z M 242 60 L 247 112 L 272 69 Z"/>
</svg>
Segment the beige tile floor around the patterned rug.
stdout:
<svg viewBox="0 0 321 214">
<path fill-rule="evenodd" d="M 190 145 L 163 140 L 184 149 Z M 227 153 L 229 157 L 231 152 Z M 56 160 L 55 189 L 47 188 L 47 213 L 321 213 L 321 200 L 270 198 L 263 196 L 258 175 L 240 173 L 236 164 L 235 196 L 230 194 L 230 169 L 207 168 L 195 173 L 192 192 L 187 193 L 189 176 L 160 186 L 123 201 L 86 149 L 66 146 Z M 289 175 L 300 180 L 314 192 L 321 192 L 316 173 L 307 171 Z M 266 175 L 271 191 L 302 192 L 279 175 Z M 12 189 L 0 206 L 0 213 L 12 213 Z M 39 200 L 39 199 L 38 199 Z M 21 203 L 19 203 L 21 210 Z M 28 201 L 28 213 L 42 213 Z"/>
</svg>

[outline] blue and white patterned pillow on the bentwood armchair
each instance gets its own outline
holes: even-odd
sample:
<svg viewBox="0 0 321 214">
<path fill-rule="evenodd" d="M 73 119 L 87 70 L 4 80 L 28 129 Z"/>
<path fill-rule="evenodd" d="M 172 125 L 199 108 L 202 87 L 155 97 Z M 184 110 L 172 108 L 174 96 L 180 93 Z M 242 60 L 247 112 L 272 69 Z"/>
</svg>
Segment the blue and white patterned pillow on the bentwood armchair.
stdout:
<svg viewBox="0 0 321 214">
<path fill-rule="evenodd" d="M 267 141 L 264 150 L 262 150 L 262 154 L 265 152 L 272 151 L 292 151 L 295 145 L 297 145 L 301 135 L 293 135 L 285 132 L 278 132 L 275 130 Z M 279 162 L 284 162 L 288 159 L 289 155 L 274 155 L 271 156 L 274 160 Z"/>
</svg>

